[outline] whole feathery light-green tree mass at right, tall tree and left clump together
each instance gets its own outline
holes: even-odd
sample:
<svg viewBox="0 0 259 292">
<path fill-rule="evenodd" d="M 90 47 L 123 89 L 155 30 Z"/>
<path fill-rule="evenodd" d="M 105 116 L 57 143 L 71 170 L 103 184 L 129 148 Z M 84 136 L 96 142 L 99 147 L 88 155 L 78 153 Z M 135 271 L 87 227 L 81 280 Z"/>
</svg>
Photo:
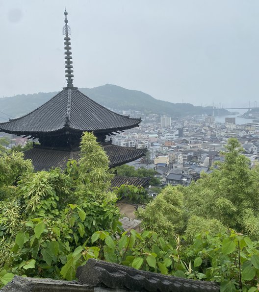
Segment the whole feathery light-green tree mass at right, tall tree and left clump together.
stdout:
<svg viewBox="0 0 259 292">
<path fill-rule="evenodd" d="M 205 230 L 216 234 L 224 228 L 233 228 L 258 240 L 259 171 L 249 168 L 249 160 L 240 154 L 242 148 L 236 139 L 229 139 L 226 149 L 222 153 L 225 161 L 218 163 L 212 173 L 202 173 L 189 187 L 166 187 L 166 197 L 162 191 L 145 210 L 137 212 L 144 228 L 157 233 L 163 228 L 171 233 L 177 231 L 188 240 Z M 173 199 L 176 196 L 179 201 Z M 181 209 L 184 226 L 181 216 L 179 222 L 171 219 L 174 213 L 170 210 L 174 208 Z"/>
</svg>

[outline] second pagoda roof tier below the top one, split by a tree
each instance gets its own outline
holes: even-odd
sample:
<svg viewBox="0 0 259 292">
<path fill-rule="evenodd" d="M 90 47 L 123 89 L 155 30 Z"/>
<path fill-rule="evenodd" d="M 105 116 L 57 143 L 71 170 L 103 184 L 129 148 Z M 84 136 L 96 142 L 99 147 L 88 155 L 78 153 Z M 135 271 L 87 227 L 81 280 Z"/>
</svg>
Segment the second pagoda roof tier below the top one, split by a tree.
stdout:
<svg viewBox="0 0 259 292">
<path fill-rule="evenodd" d="M 124 163 L 136 160 L 145 155 L 147 149 L 135 147 L 122 147 L 116 145 L 104 145 L 104 151 L 109 158 L 109 167 L 113 168 Z M 32 148 L 24 152 L 25 159 L 31 159 L 35 171 L 50 170 L 59 167 L 65 169 L 69 159 L 78 160 L 80 151 L 59 150 L 46 148 Z"/>
</svg>

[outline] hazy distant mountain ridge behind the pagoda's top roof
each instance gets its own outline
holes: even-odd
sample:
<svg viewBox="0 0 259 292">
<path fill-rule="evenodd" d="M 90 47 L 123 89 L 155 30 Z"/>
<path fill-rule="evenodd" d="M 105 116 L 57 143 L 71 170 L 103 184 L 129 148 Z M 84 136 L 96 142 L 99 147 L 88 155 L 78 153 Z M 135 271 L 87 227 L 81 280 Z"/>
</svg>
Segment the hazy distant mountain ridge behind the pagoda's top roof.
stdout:
<svg viewBox="0 0 259 292">
<path fill-rule="evenodd" d="M 203 108 L 190 103 L 163 101 L 141 91 L 129 90 L 112 84 L 94 88 L 79 88 L 79 90 L 94 101 L 113 109 L 131 109 L 142 111 L 145 114 L 166 114 L 172 117 L 212 114 L 212 107 Z M 50 100 L 57 93 L 49 92 L 0 98 L 0 121 L 5 122 L 4 119 L 8 119 L 3 113 L 9 115 L 10 118 L 24 116 Z M 228 111 L 224 111 L 224 113 L 223 111 L 221 110 L 221 114 L 228 114 Z"/>
</svg>

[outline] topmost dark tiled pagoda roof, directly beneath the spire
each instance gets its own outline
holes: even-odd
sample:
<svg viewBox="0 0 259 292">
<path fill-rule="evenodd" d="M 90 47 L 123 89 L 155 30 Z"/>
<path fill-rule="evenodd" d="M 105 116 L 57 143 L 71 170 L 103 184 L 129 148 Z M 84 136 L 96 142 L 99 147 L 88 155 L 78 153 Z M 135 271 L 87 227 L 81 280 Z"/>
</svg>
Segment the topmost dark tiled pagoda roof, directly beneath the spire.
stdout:
<svg viewBox="0 0 259 292">
<path fill-rule="evenodd" d="M 49 101 L 27 115 L 0 123 L 0 131 L 32 135 L 70 132 L 112 133 L 138 126 L 132 119 L 108 110 L 77 88 L 64 88 Z"/>
</svg>

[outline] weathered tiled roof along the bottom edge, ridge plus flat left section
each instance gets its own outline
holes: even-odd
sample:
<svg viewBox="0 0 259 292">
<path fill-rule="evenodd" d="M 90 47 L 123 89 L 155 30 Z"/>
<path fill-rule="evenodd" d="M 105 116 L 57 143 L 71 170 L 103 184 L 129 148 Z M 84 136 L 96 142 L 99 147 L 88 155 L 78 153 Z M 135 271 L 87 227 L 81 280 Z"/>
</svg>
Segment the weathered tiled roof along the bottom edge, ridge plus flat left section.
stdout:
<svg viewBox="0 0 259 292">
<path fill-rule="evenodd" d="M 2 288 L 2 292 L 219 292 L 215 282 L 191 280 L 175 276 L 142 271 L 118 264 L 89 259 L 78 267 L 78 281 L 60 281 L 48 278 L 15 276 Z"/>
</svg>

